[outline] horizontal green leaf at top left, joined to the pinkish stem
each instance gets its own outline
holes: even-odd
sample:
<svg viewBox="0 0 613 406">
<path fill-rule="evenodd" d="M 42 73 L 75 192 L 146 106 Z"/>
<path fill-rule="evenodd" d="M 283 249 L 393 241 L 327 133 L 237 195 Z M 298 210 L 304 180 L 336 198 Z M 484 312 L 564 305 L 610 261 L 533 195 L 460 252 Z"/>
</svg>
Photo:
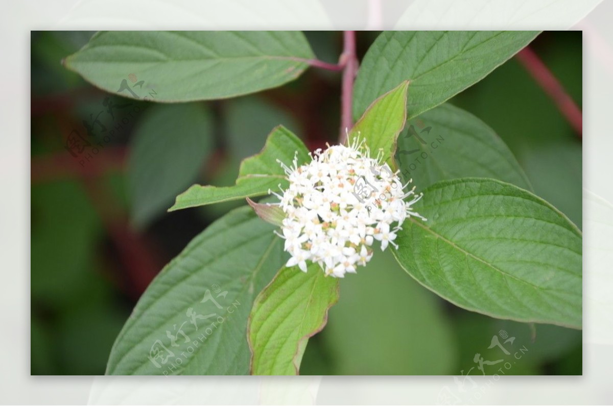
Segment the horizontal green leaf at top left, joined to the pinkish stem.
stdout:
<svg viewBox="0 0 613 406">
<path fill-rule="evenodd" d="M 276 88 L 312 58 L 300 31 L 100 31 L 64 64 L 105 91 L 188 102 Z"/>
</svg>

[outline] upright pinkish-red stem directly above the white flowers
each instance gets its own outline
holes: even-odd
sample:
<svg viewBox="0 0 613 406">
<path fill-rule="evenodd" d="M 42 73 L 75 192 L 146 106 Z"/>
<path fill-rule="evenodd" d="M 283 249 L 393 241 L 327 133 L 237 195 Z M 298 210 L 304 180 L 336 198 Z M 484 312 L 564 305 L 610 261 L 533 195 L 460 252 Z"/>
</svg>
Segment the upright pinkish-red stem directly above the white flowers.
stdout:
<svg viewBox="0 0 613 406">
<path fill-rule="evenodd" d="M 344 144 L 347 137 L 346 132 L 353 126 L 351 102 L 357 72 L 356 31 L 343 31 L 343 53 L 339 65 L 344 66 L 344 69 L 341 82 L 341 129 L 338 143 Z"/>
</svg>

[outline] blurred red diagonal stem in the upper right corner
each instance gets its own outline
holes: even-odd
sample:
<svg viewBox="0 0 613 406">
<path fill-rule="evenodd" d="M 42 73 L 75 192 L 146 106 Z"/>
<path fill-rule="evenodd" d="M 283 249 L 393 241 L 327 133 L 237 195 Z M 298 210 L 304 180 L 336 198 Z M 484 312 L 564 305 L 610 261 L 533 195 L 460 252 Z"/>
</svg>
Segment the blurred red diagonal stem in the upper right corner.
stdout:
<svg viewBox="0 0 613 406">
<path fill-rule="evenodd" d="M 543 90 L 554 100 L 558 109 L 566 120 L 571 124 L 573 129 L 583 137 L 583 115 L 581 109 L 576 105 L 573 99 L 568 95 L 566 90 L 555 78 L 554 74 L 545 66 L 538 55 L 528 47 L 517 53 L 517 59 L 524 65 L 525 69 L 530 72 L 536 82 Z"/>
</svg>

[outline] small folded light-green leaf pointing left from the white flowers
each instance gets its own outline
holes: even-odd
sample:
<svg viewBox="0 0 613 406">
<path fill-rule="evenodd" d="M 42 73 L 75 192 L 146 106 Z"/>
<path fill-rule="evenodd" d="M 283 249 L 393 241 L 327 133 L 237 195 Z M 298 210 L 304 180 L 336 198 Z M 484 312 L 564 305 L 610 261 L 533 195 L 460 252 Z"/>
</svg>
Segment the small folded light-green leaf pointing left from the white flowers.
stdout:
<svg viewBox="0 0 613 406">
<path fill-rule="evenodd" d="M 285 172 L 277 159 L 289 166 L 294 159 L 294 153 L 298 165 L 310 159 L 307 147 L 298 137 L 283 126 L 275 127 L 268 135 L 262 151 L 243 160 L 235 186 L 193 185 L 177 196 L 175 205 L 169 211 L 262 196 L 268 194 L 269 189 L 277 190 L 280 184 L 282 187 L 287 186 Z"/>
</svg>

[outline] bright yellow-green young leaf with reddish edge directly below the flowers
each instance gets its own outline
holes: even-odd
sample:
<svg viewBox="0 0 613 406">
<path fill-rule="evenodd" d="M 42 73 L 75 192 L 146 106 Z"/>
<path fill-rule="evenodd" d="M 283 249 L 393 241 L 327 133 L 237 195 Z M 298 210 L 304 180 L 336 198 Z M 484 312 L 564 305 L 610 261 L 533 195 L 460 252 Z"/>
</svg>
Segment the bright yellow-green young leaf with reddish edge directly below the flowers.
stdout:
<svg viewBox="0 0 613 406">
<path fill-rule="evenodd" d="M 252 375 L 298 375 L 309 337 L 326 325 L 338 301 L 338 279 L 311 263 L 307 273 L 283 267 L 257 296 L 249 316 Z"/>
</svg>

